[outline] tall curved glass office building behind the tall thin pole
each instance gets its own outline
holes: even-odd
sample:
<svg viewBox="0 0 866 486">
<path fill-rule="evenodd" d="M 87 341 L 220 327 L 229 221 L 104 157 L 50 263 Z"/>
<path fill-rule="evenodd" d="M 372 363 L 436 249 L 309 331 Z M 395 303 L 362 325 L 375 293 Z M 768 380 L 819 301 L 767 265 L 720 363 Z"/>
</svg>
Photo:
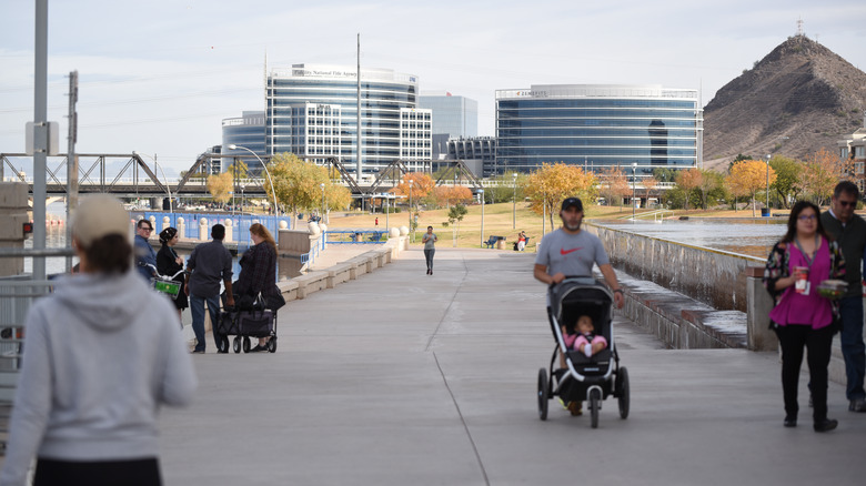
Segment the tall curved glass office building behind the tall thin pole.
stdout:
<svg viewBox="0 0 866 486">
<path fill-rule="evenodd" d="M 401 159 L 413 170 L 430 160 L 430 110 L 417 107 L 413 74 L 361 70 L 361 162 L 374 173 Z M 293 64 L 266 80 L 264 144 L 268 154 L 294 153 L 316 162 L 358 162 L 358 77 L 354 67 Z"/>
</svg>

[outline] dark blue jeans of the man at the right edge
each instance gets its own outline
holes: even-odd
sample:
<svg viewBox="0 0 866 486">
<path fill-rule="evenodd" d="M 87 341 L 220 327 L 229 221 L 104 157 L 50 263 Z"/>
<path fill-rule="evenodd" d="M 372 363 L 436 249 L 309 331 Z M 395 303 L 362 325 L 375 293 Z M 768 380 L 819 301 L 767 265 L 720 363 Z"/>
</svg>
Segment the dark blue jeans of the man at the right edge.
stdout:
<svg viewBox="0 0 866 486">
<path fill-rule="evenodd" d="M 845 357 L 845 374 L 848 399 L 866 398 L 863 376 L 866 374 L 866 346 L 863 344 L 863 297 L 845 297 L 839 303 L 842 312 L 842 355 Z"/>
</svg>

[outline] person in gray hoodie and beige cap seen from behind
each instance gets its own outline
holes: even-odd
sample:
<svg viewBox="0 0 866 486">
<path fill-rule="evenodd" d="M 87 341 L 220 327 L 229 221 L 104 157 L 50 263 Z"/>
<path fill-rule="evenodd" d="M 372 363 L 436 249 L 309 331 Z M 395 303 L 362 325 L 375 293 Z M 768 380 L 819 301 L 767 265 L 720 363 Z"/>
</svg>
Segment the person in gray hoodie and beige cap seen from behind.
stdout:
<svg viewBox="0 0 866 486">
<path fill-rule="evenodd" d="M 56 281 L 24 325 L 0 485 L 161 484 L 157 413 L 185 405 L 195 373 L 178 314 L 132 270 L 120 201 L 87 198 L 72 243 L 80 274 Z"/>
</svg>

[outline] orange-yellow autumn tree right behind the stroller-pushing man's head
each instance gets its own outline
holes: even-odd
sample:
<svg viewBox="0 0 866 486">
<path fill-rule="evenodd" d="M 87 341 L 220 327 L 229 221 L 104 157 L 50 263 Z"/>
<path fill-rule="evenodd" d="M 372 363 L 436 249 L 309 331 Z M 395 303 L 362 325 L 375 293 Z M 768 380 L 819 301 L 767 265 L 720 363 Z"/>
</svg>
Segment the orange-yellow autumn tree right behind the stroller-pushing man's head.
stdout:
<svg viewBox="0 0 866 486">
<path fill-rule="evenodd" d="M 530 210 L 535 214 L 546 212 L 553 227 L 553 216 L 558 214 L 562 201 L 571 196 L 592 201 L 595 199 L 596 184 L 597 180 L 592 172 L 584 172 L 580 165 L 558 162 L 543 163 L 521 182 L 521 188 L 530 201 Z"/>
</svg>

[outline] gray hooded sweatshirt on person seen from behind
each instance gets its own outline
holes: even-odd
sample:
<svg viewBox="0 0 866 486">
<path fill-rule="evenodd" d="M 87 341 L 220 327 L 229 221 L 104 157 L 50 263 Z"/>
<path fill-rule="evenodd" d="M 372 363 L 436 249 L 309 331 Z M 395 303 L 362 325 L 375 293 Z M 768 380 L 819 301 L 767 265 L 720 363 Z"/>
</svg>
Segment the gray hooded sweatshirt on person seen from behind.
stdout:
<svg viewBox="0 0 866 486">
<path fill-rule="evenodd" d="M 130 271 L 77 274 L 30 308 L 0 485 L 36 457 L 158 457 L 161 404 L 187 405 L 195 372 L 168 297 Z"/>
</svg>

